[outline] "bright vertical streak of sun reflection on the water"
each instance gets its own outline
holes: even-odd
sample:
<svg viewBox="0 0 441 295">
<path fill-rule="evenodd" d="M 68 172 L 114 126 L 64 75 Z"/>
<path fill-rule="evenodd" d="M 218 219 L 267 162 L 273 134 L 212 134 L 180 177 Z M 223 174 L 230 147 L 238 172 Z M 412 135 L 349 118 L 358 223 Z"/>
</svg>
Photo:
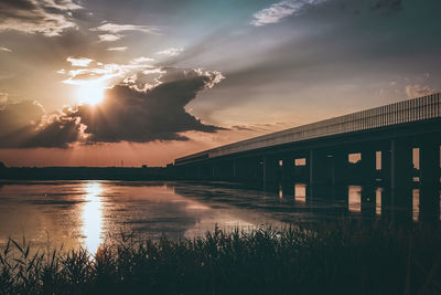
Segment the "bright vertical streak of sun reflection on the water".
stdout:
<svg viewBox="0 0 441 295">
<path fill-rule="evenodd" d="M 83 208 L 84 245 L 90 253 L 95 253 L 101 243 L 103 204 L 100 193 L 103 188 L 99 182 L 87 182 L 85 191 Z"/>
</svg>

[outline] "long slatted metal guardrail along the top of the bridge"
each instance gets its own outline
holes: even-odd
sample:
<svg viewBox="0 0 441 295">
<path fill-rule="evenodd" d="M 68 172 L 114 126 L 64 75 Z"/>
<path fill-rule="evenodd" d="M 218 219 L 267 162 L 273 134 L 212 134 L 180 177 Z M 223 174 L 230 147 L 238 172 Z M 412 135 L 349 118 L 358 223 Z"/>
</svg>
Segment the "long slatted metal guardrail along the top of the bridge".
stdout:
<svg viewBox="0 0 441 295">
<path fill-rule="evenodd" d="M 254 137 L 179 158 L 175 164 L 438 117 L 441 117 L 440 93 Z"/>
</svg>

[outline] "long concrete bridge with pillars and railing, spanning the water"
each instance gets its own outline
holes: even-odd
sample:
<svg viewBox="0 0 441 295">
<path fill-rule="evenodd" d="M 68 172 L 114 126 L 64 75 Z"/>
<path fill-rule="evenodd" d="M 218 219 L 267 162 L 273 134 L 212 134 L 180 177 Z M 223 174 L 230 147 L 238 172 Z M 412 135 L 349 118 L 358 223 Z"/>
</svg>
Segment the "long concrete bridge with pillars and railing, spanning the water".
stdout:
<svg viewBox="0 0 441 295">
<path fill-rule="evenodd" d="M 173 170 L 189 179 L 263 185 L 381 181 L 395 190 L 419 180 L 438 189 L 440 145 L 438 93 L 178 158 Z"/>
</svg>

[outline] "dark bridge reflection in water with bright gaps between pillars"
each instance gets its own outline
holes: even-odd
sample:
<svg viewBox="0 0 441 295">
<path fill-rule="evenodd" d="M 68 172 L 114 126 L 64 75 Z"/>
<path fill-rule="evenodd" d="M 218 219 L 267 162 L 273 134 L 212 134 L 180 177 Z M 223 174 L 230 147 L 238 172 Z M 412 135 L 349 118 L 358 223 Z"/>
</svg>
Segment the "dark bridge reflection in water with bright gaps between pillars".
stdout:
<svg viewBox="0 0 441 295">
<path fill-rule="evenodd" d="M 311 187 L 308 183 L 283 182 L 267 187 L 266 191 L 272 191 L 284 202 L 292 200 L 292 211 L 306 208 L 315 215 L 352 215 L 406 223 L 441 220 L 441 190 L 418 186 L 390 190 L 379 186 Z"/>
</svg>

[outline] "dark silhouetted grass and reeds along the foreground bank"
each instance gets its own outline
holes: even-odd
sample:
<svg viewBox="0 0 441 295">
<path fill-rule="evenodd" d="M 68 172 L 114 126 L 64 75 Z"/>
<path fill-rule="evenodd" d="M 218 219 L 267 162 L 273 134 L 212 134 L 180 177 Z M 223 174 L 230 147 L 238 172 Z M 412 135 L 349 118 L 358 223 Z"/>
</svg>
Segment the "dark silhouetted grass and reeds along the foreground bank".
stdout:
<svg viewBox="0 0 441 295">
<path fill-rule="evenodd" d="M 96 254 L 10 240 L 0 294 L 440 294 L 440 225 L 342 220 L 250 233 L 140 241 Z"/>
</svg>

